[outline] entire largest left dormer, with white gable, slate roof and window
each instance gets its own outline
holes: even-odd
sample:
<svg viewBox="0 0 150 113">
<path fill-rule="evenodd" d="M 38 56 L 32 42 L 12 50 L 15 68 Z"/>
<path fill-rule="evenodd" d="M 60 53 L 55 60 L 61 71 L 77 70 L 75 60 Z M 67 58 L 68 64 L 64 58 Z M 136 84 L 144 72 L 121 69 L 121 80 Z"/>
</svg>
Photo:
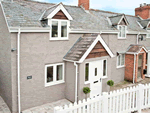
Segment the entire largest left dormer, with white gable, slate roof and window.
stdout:
<svg viewBox="0 0 150 113">
<path fill-rule="evenodd" d="M 47 24 L 50 26 L 50 40 L 68 40 L 70 21 L 73 20 L 73 18 L 62 3 L 45 10 L 41 19 L 48 20 Z"/>
</svg>

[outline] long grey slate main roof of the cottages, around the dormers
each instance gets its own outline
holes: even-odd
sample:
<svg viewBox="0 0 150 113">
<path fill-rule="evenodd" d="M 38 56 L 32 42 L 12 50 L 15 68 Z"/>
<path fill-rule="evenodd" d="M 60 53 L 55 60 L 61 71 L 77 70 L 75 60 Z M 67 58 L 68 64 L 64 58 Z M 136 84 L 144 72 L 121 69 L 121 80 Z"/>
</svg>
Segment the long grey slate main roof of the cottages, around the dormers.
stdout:
<svg viewBox="0 0 150 113">
<path fill-rule="evenodd" d="M 46 17 L 54 9 L 50 8 L 56 4 L 43 3 L 29 0 L 14 0 L 13 3 L 2 1 L 3 9 L 9 27 L 43 27 L 40 22 L 42 16 Z M 107 17 L 116 16 L 119 13 L 112 13 L 102 10 L 90 9 L 89 13 L 77 6 L 64 5 L 68 13 L 72 16 L 71 29 L 77 30 L 117 30 L 109 24 Z M 47 11 L 44 14 L 45 10 Z M 145 32 L 141 29 L 137 21 L 141 19 L 135 16 L 126 15 L 129 22 L 128 30 Z M 118 30 L 117 30 L 118 31 Z"/>
</svg>

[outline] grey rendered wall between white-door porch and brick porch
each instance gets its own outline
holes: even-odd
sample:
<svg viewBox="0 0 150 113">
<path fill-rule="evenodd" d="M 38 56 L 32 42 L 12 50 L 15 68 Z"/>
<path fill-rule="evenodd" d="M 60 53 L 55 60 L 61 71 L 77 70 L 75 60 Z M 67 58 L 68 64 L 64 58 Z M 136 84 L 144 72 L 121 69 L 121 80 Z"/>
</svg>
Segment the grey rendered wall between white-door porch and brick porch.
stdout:
<svg viewBox="0 0 150 113">
<path fill-rule="evenodd" d="M 116 56 L 117 52 L 125 52 L 130 44 L 136 44 L 136 36 L 137 35 L 127 35 L 126 39 L 118 39 L 118 36 L 115 34 L 103 34 L 102 38 Z M 115 83 L 123 81 L 125 68 L 117 68 L 117 57 L 111 58 L 111 64 L 108 65 L 111 65 L 111 69 L 108 70 L 110 71 L 109 73 L 111 73 L 111 79 L 114 80 Z"/>
</svg>

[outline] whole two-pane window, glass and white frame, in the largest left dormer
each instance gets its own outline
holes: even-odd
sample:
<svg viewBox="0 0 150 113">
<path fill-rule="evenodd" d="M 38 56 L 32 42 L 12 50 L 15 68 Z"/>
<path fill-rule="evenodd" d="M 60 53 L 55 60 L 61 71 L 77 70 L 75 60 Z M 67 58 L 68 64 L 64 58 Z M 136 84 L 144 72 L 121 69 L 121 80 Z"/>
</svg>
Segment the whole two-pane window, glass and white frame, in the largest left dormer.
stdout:
<svg viewBox="0 0 150 113">
<path fill-rule="evenodd" d="M 68 20 L 55 20 L 51 21 L 51 36 L 50 40 L 66 40 L 68 39 Z"/>
</svg>

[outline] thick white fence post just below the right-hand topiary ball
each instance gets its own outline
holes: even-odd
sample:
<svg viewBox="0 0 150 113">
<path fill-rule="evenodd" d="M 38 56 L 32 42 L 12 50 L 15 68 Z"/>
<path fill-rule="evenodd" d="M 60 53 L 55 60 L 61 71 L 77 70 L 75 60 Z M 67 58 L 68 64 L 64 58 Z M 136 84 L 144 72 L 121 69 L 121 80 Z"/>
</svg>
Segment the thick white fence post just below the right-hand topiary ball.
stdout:
<svg viewBox="0 0 150 113">
<path fill-rule="evenodd" d="M 102 105 L 102 113 L 108 113 L 108 92 L 103 92 L 103 105 Z"/>
</svg>

